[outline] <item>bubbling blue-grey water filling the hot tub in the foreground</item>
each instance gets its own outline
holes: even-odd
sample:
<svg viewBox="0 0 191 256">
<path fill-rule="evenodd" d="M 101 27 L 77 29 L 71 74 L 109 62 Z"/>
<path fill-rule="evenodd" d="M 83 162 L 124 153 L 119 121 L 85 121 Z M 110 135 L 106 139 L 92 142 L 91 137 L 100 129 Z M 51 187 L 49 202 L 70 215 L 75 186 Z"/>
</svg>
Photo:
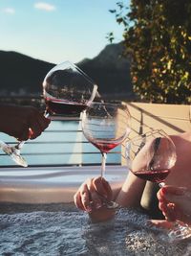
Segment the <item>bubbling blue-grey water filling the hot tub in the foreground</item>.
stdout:
<svg viewBox="0 0 191 256">
<path fill-rule="evenodd" d="M 148 217 L 133 210 L 120 209 L 114 220 L 92 223 L 74 204 L 2 204 L 0 209 L 0 255 L 177 256 L 191 253 L 188 241 L 169 244 L 165 233 L 148 226 Z"/>
</svg>

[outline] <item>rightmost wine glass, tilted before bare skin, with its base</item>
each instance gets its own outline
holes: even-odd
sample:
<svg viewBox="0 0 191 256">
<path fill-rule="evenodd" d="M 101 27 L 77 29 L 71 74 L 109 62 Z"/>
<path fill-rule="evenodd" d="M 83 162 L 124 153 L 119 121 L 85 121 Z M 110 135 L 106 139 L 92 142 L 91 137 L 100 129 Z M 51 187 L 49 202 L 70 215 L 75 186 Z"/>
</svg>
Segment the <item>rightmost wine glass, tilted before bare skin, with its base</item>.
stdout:
<svg viewBox="0 0 191 256">
<path fill-rule="evenodd" d="M 128 169 L 140 178 L 165 185 L 177 160 L 176 147 L 161 129 L 154 129 L 135 136 L 126 142 L 125 157 Z M 171 242 L 191 236 L 188 225 L 175 221 L 168 233 Z"/>
</svg>

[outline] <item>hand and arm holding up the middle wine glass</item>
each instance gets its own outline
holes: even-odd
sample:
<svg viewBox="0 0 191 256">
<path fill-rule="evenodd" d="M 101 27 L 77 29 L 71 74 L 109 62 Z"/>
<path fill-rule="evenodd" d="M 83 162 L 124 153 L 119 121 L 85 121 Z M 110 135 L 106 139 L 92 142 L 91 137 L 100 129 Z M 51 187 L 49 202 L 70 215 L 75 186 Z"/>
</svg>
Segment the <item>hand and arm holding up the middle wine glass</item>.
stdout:
<svg viewBox="0 0 191 256">
<path fill-rule="evenodd" d="M 105 179 L 96 177 L 82 183 L 74 195 L 74 203 L 88 212 L 92 221 L 107 221 L 115 216 L 115 210 L 107 209 L 102 197 L 116 200 L 122 207 L 138 207 L 144 186 L 144 180 L 129 173 L 121 189 L 112 191 Z"/>
</svg>

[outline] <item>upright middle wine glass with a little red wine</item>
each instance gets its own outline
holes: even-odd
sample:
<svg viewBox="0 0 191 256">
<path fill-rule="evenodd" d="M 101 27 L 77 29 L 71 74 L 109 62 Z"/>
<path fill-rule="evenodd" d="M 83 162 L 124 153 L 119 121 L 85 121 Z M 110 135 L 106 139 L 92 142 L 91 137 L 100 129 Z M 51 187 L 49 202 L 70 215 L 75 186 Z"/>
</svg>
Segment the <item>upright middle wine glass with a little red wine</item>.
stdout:
<svg viewBox="0 0 191 256">
<path fill-rule="evenodd" d="M 130 113 L 127 105 L 92 103 L 82 113 L 82 131 L 102 155 L 101 177 L 105 173 L 107 153 L 121 144 L 130 130 Z M 118 206 L 116 202 L 109 202 L 106 198 L 103 200 L 108 208 Z"/>
</svg>

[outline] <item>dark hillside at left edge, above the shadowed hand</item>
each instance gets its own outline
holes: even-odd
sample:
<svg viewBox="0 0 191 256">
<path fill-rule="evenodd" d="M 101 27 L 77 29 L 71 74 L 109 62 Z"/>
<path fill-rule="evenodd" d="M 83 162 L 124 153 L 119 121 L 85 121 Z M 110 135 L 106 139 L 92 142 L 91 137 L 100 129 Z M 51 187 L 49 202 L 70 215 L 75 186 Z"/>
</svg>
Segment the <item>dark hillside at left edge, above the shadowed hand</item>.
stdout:
<svg viewBox="0 0 191 256">
<path fill-rule="evenodd" d="M 0 51 L 0 94 L 28 94 L 42 90 L 42 81 L 53 63 Z"/>
</svg>

